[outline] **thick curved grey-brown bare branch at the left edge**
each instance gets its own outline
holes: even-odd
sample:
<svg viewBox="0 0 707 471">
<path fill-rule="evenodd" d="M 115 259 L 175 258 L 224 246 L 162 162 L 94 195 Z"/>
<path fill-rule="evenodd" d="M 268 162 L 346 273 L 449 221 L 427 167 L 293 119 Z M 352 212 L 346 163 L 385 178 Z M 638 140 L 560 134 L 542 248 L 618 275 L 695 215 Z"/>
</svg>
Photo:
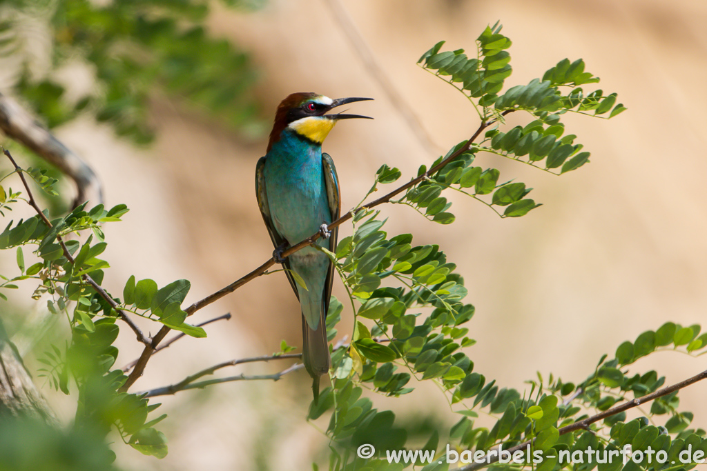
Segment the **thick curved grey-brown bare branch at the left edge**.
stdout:
<svg viewBox="0 0 707 471">
<path fill-rule="evenodd" d="M 95 172 L 76 153 L 43 128 L 18 102 L 0 93 L 0 129 L 59 168 L 76 183 L 74 208 L 93 197 L 103 201 L 103 190 Z"/>
</svg>

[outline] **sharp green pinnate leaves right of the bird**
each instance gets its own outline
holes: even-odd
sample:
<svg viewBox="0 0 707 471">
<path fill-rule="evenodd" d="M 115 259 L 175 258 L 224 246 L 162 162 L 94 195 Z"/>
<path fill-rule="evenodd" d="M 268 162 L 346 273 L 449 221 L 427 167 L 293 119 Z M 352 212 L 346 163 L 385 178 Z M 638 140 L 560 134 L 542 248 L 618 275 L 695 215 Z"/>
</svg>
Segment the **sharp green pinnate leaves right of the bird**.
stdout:
<svg viewBox="0 0 707 471">
<path fill-rule="evenodd" d="M 462 141 L 429 169 L 422 166 L 414 184 L 393 203 L 410 205 L 426 219 L 445 224 L 455 218 L 449 211 L 450 201 L 443 196 L 443 191 L 452 189 L 483 201 L 501 217 L 522 216 L 538 206 L 526 198 L 531 189 L 515 181 L 499 184 L 498 169 L 473 165 L 479 152 L 548 172 L 559 169 L 556 174 L 588 162 L 589 153 L 581 152 L 583 146 L 575 143 L 577 136 L 564 133 L 562 115 L 579 112 L 614 117 L 624 107 L 616 105 L 615 94 L 595 90 L 585 95 L 579 85 L 599 79 L 585 72 L 581 60 L 560 61 L 542 79 L 503 91 L 503 83 L 512 71 L 506 50 L 510 44 L 500 28 L 487 28 L 477 39 L 475 57 L 469 58 L 462 49 L 440 52 L 443 43 L 421 57 L 424 68 L 435 71 L 472 102 L 482 119 L 482 131 L 492 124 L 497 126 L 486 131 L 481 142 Z M 502 131 L 506 115 L 521 110 L 530 114 L 530 121 Z M 378 184 L 390 184 L 400 177 L 399 169 L 383 165 L 369 194 Z M 503 213 L 496 208 L 504 208 Z M 537 469 L 550 471 L 568 466 L 557 461 L 561 451 L 574 453 L 589 446 L 595 451 L 611 451 L 632 443 L 634 450 L 645 450 L 652 444 L 670 456 L 686 446 L 693 450 L 707 447 L 702 429 L 687 428 L 693 416 L 679 410 L 677 390 L 653 402 L 650 412 L 641 410 L 645 417 L 627 422 L 626 412 L 620 412 L 591 422 L 588 430 L 561 433 L 562 427 L 661 388 L 665 378 L 655 371 L 629 374 L 627 366 L 668 347 L 693 356 L 700 354 L 706 347 L 707 334 L 699 335 L 699 326 L 684 328 L 667 323 L 655 332 L 643 333 L 635 342 L 622 344 L 615 359 L 607 361 L 604 356 L 595 371 L 577 385 L 552 376 L 545 384 L 538 376 L 539 381 L 530 381 L 530 391 L 505 388 L 474 371 L 474 362 L 463 350 L 475 343 L 468 335 L 474 306 L 464 299 L 467 289 L 455 273 L 455 264 L 439 246 L 415 246 L 411 234 L 390 237 L 382 230 L 385 222 L 380 213 L 366 209 L 363 203 L 354 211 L 353 234 L 339 242 L 335 253 L 328 253 L 348 288 L 356 313 L 351 345 L 332 353 L 332 387 L 322 391 L 320 403 L 310 407 L 309 419 L 332 410 L 327 434 L 339 448 L 332 451 L 331 470 L 403 469 L 413 464 L 391 468 L 383 459 L 385 450 L 411 446 L 409 437 L 395 424 L 393 412 L 376 409 L 362 393 L 368 389 L 388 396 L 409 394 L 419 381 L 436 383 L 450 408 L 462 416 L 447 433 L 448 443 L 459 453 L 486 451 L 499 445 L 508 449 L 532 441 L 533 450 L 547 456 Z M 332 324 L 327 322 L 330 338 L 335 335 L 333 325 L 343 309 L 335 299 L 332 306 L 334 319 Z M 490 416 L 491 424 L 488 419 L 477 420 L 480 413 Z M 436 450 L 438 440 L 437 431 L 430 434 L 424 449 Z M 350 450 L 363 443 L 375 446 L 375 458 L 364 461 L 351 455 Z M 600 469 L 622 467 L 621 460 L 615 463 L 614 467 L 600 465 Z M 528 462 L 522 467 L 532 465 Z M 578 465 L 578 469 L 589 470 L 596 465 L 595 461 L 594 465 Z M 446 466 L 431 463 L 423 470 L 445 470 Z M 518 465 L 495 467 L 518 469 Z M 655 467 L 655 462 L 629 463 L 624 469 L 660 467 Z"/>
</svg>

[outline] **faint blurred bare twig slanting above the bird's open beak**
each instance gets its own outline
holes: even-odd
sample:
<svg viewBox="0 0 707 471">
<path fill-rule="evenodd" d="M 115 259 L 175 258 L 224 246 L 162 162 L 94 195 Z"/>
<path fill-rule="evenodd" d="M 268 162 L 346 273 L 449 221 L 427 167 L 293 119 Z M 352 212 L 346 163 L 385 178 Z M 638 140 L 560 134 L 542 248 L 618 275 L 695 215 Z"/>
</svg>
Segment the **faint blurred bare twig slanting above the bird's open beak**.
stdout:
<svg viewBox="0 0 707 471">
<path fill-rule="evenodd" d="M 371 52 L 370 47 L 366 44 L 366 40 L 361 36 L 361 32 L 356 28 L 356 23 L 351 20 L 351 16 L 349 16 L 344 6 L 341 5 L 341 1 L 326 0 L 325 3 L 332 11 L 334 19 L 339 23 L 341 31 L 346 35 L 346 39 L 351 43 L 351 47 L 353 47 L 356 54 L 358 54 L 358 58 L 361 59 L 363 65 L 368 69 L 368 73 L 378 82 L 378 85 L 380 85 L 380 88 L 385 95 L 387 95 L 388 100 L 390 100 L 391 105 L 393 105 L 400 116 L 402 116 L 410 131 L 417 138 L 422 147 L 427 153 L 433 155 L 438 153 L 439 146 L 433 143 L 429 133 L 424 126 L 422 126 L 420 119 L 411 107 L 409 107 L 407 101 L 400 96 L 395 85 L 390 82 L 385 71 L 383 71 L 380 64 L 378 64 L 378 61 L 375 60 L 373 52 Z"/>
</svg>

